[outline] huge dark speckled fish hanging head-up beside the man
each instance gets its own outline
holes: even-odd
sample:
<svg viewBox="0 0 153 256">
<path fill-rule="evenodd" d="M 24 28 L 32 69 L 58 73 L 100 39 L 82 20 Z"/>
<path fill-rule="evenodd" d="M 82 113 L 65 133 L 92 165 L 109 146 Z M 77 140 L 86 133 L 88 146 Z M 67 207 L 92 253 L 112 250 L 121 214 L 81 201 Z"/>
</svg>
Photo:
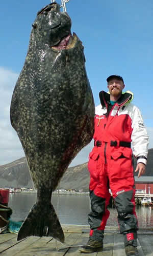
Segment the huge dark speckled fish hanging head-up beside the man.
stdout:
<svg viewBox="0 0 153 256">
<path fill-rule="evenodd" d="M 94 100 L 84 47 L 70 32 L 71 19 L 52 3 L 38 12 L 29 50 L 12 95 L 10 119 L 37 188 L 37 202 L 17 240 L 64 234 L 52 203 L 54 191 L 75 155 L 93 137 Z"/>
</svg>

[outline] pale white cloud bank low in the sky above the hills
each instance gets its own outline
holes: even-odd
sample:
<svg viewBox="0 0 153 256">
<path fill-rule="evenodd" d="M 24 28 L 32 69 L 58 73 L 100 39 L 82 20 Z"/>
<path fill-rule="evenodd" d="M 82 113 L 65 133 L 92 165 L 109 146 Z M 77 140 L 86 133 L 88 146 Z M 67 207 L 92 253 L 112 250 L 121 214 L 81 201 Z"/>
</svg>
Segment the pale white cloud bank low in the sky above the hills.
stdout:
<svg viewBox="0 0 153 256">
<path fill-rule="evenodd" d="M 10 103 L 18 74 L 0 67 L 0 165 L 24 156 L 18 136 L 10 124 Z M 147 128 L 149 148 L 153 148 L 153 128 Z M 93 140 L 74 158 L 70 166 L 88 162 Z"/>
</svg>

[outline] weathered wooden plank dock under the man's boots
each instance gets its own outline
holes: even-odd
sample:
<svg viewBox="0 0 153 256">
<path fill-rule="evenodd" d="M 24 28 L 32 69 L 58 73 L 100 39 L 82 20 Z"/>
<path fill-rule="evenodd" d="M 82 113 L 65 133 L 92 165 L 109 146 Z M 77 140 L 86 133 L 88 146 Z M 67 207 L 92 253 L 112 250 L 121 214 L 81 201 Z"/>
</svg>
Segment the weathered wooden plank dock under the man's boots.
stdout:
<svg viewBox="0 0 153 256">
<path fill-rule="evenodd" d="M 78 248 L 85 244 L 89 238 L 89 226 L 62 225 L 65 233 L 65 243 L 57 242 L 50 237 L 29 237 L 17 241 L 17 235 L 0 234 L 0 254 L 11 256 L 125 256 L 123 235 L 119 234 L 117 227 L 106 227 L 104 249 L 101 252 L 80 253 Z M 139 256 L 153 256 L 153 228 L 138 231 Z"/>
</svg>

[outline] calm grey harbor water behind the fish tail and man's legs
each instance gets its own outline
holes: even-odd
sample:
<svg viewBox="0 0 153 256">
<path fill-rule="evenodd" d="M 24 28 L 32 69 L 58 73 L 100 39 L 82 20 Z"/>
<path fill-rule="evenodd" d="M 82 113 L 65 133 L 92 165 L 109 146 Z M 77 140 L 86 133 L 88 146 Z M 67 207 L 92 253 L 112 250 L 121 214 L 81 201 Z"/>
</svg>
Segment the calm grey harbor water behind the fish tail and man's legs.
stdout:
<svg viewBox="0 0 153 256">
<path fill-rule="evenodd" d="M 10 193 L 9 204 L 13 210 L 11 219 L 21 221 L 28 215 L 36 202 L 36 193 Z M 88 225 L 90 212 L 89 195 L 62 195 L 53 194 L 52 204 L 61 224 Z M 118 226 L 117 211 L 109 208 L 110 217 L 107 226 Z M 138 224 L 141 228 L 153 228 L 153 208 L 136 206 Z"/>
</svg>

